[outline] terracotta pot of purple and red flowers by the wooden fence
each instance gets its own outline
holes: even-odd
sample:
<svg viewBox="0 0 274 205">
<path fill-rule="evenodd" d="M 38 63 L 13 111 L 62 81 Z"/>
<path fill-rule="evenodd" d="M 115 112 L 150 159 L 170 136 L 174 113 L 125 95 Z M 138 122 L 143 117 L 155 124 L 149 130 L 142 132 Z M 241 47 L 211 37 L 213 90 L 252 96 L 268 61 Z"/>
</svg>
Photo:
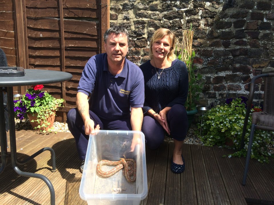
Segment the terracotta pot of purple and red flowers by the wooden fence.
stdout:
<svg viewBox="0 0 274 205">
<path fill-rule="evenodd" d="M 42 91 L 43 87 L 34 85 L 27 89 L 20 100 L 14 101 L 14 113 L 20 120 L 29 118 L 33 128 L 46 132 L 53 126 L 55 112 L 64 99 L 56 99 L 47 91 Z"/>
</svg>

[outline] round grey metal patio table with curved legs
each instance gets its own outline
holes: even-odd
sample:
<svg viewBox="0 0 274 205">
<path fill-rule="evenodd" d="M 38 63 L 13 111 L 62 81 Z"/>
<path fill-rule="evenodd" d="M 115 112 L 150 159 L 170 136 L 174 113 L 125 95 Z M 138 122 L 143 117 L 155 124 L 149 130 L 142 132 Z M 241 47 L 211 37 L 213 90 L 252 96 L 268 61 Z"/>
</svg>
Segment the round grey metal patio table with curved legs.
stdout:
<svg viewBox="0 0 274 205">
<path fill-rule="evenodd" d="M 35 69 L 25 69 L 24 76 L 7 76 L 0 77 L 0 87 L 7 87 L 7 106 L 9 111 L 9 128 L 10 128 L 10 148 L 11 148 L 11 164 L 15 172 L 21 176 L 25 177 L 35 177 L 42 179 L 47 186 L 49 187 L 51 194 L 51 205 L 55 205 L 55 191 L 52 183 L 47 177 L 37 173 L 23 172 L 17 165 L 22 165 L 27 163 L 29 160 L 33 159 L 37 155 L 41 154 L 43 151 L 50 151 L 52 155 L 52 172 L 56 171 L 55 164 L 55 152 L 51 147 L 45 147 L 40 149 L 27 159 L 19 161 L 17 159 L 16 151 L 16 138 L 15 138 L 15 122 L 14 122 L 14 110 L 13 110 L 13 86 L 24 86 L 24 85 L 41 85 L 41 84 L 50 84 L 58 83 L 70 80 L 72 75 L 70 73 L 61 72 L 61 71 L 51 71 L 51 70 L 35 70 Z M 5 165 L 7 163 L 7 139 L 6 139 L 6 130 L 5 130 L 5 117 L 4 117 L 4 104 L 3 104 L 3 93 L 0 92 L 0 144 L 1 144 L 1 167 L 0 174 L 4 171 Z"/>
</svg>

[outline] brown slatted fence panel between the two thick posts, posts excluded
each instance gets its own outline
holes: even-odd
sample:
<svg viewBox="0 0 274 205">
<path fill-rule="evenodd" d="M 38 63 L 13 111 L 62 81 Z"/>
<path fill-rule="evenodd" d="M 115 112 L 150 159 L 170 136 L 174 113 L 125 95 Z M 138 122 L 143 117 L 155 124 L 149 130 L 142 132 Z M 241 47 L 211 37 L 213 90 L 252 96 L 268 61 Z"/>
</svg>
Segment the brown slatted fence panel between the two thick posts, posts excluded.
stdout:
<svg viewBox="0 0 274 205">
<path fill-rule="evenodd" d="M 77 86 L 84 65 L 100 52 L 98 3 L 94 0 L 26 0 L 25 3 L 29 67 L 73 75 L 65 83 L 45 85 L 53 96 L 66 100 L 62 110 L 67 111 L 76 106 Z"/>
</svg>

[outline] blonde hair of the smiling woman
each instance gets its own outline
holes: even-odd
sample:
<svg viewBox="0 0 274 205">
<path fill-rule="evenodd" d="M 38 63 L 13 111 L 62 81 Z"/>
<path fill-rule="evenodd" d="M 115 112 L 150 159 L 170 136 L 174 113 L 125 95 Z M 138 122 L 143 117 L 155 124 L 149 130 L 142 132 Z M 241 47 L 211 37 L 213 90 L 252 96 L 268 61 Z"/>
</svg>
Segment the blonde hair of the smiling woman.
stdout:
<svg viewBox="0 0 274 205">
<path fill-rule="evenodd" d="M 164 38 L 165 36 L 168 36 L 169 43 L 170 43 L 170 52 L 168 53 L 168 56 L 167 56 L 168 60 L 173 61 L 176 58 L 176 55 L 174 54 L 176 36 L 167 28 L 159 28 L 158 30 L 155 31 L 155 33 L 153 34 L 150 40 L 150 45 L 149 45 L 150 59 L 153 58 L 152 45 L 154 44 L 155 41 L 160 40 Z"/>
</svg>

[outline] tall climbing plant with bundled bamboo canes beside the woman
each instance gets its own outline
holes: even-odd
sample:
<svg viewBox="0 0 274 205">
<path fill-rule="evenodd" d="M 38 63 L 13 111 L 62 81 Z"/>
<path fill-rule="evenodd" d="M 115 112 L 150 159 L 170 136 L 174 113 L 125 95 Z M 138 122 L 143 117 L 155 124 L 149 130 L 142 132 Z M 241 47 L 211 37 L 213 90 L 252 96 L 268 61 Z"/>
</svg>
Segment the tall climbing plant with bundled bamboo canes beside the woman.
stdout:
<svg viewBox="0 0 274 205">
<path fill-rule="evenodd" d="M 188 129 L 192 123 L 194 115 L 198 112 L 196 108 L 196 102 L 200 99 L 200 93 L 202 92 L 202 87 L 204 83 L 200 83 L 202 75 L 200 73 L 195 74 L 195 66 L 193 65 L 193 59 L 195 57 L 195 52 L 192 51 L 192 40 L 194 31 L 183 30 L 183 40 L 181 53 L 178 56 L 179 60 L 186 63 L 188 69 L 188 97 L 186 100 L 186 110 L 188 114 Z"/>
</svg>

